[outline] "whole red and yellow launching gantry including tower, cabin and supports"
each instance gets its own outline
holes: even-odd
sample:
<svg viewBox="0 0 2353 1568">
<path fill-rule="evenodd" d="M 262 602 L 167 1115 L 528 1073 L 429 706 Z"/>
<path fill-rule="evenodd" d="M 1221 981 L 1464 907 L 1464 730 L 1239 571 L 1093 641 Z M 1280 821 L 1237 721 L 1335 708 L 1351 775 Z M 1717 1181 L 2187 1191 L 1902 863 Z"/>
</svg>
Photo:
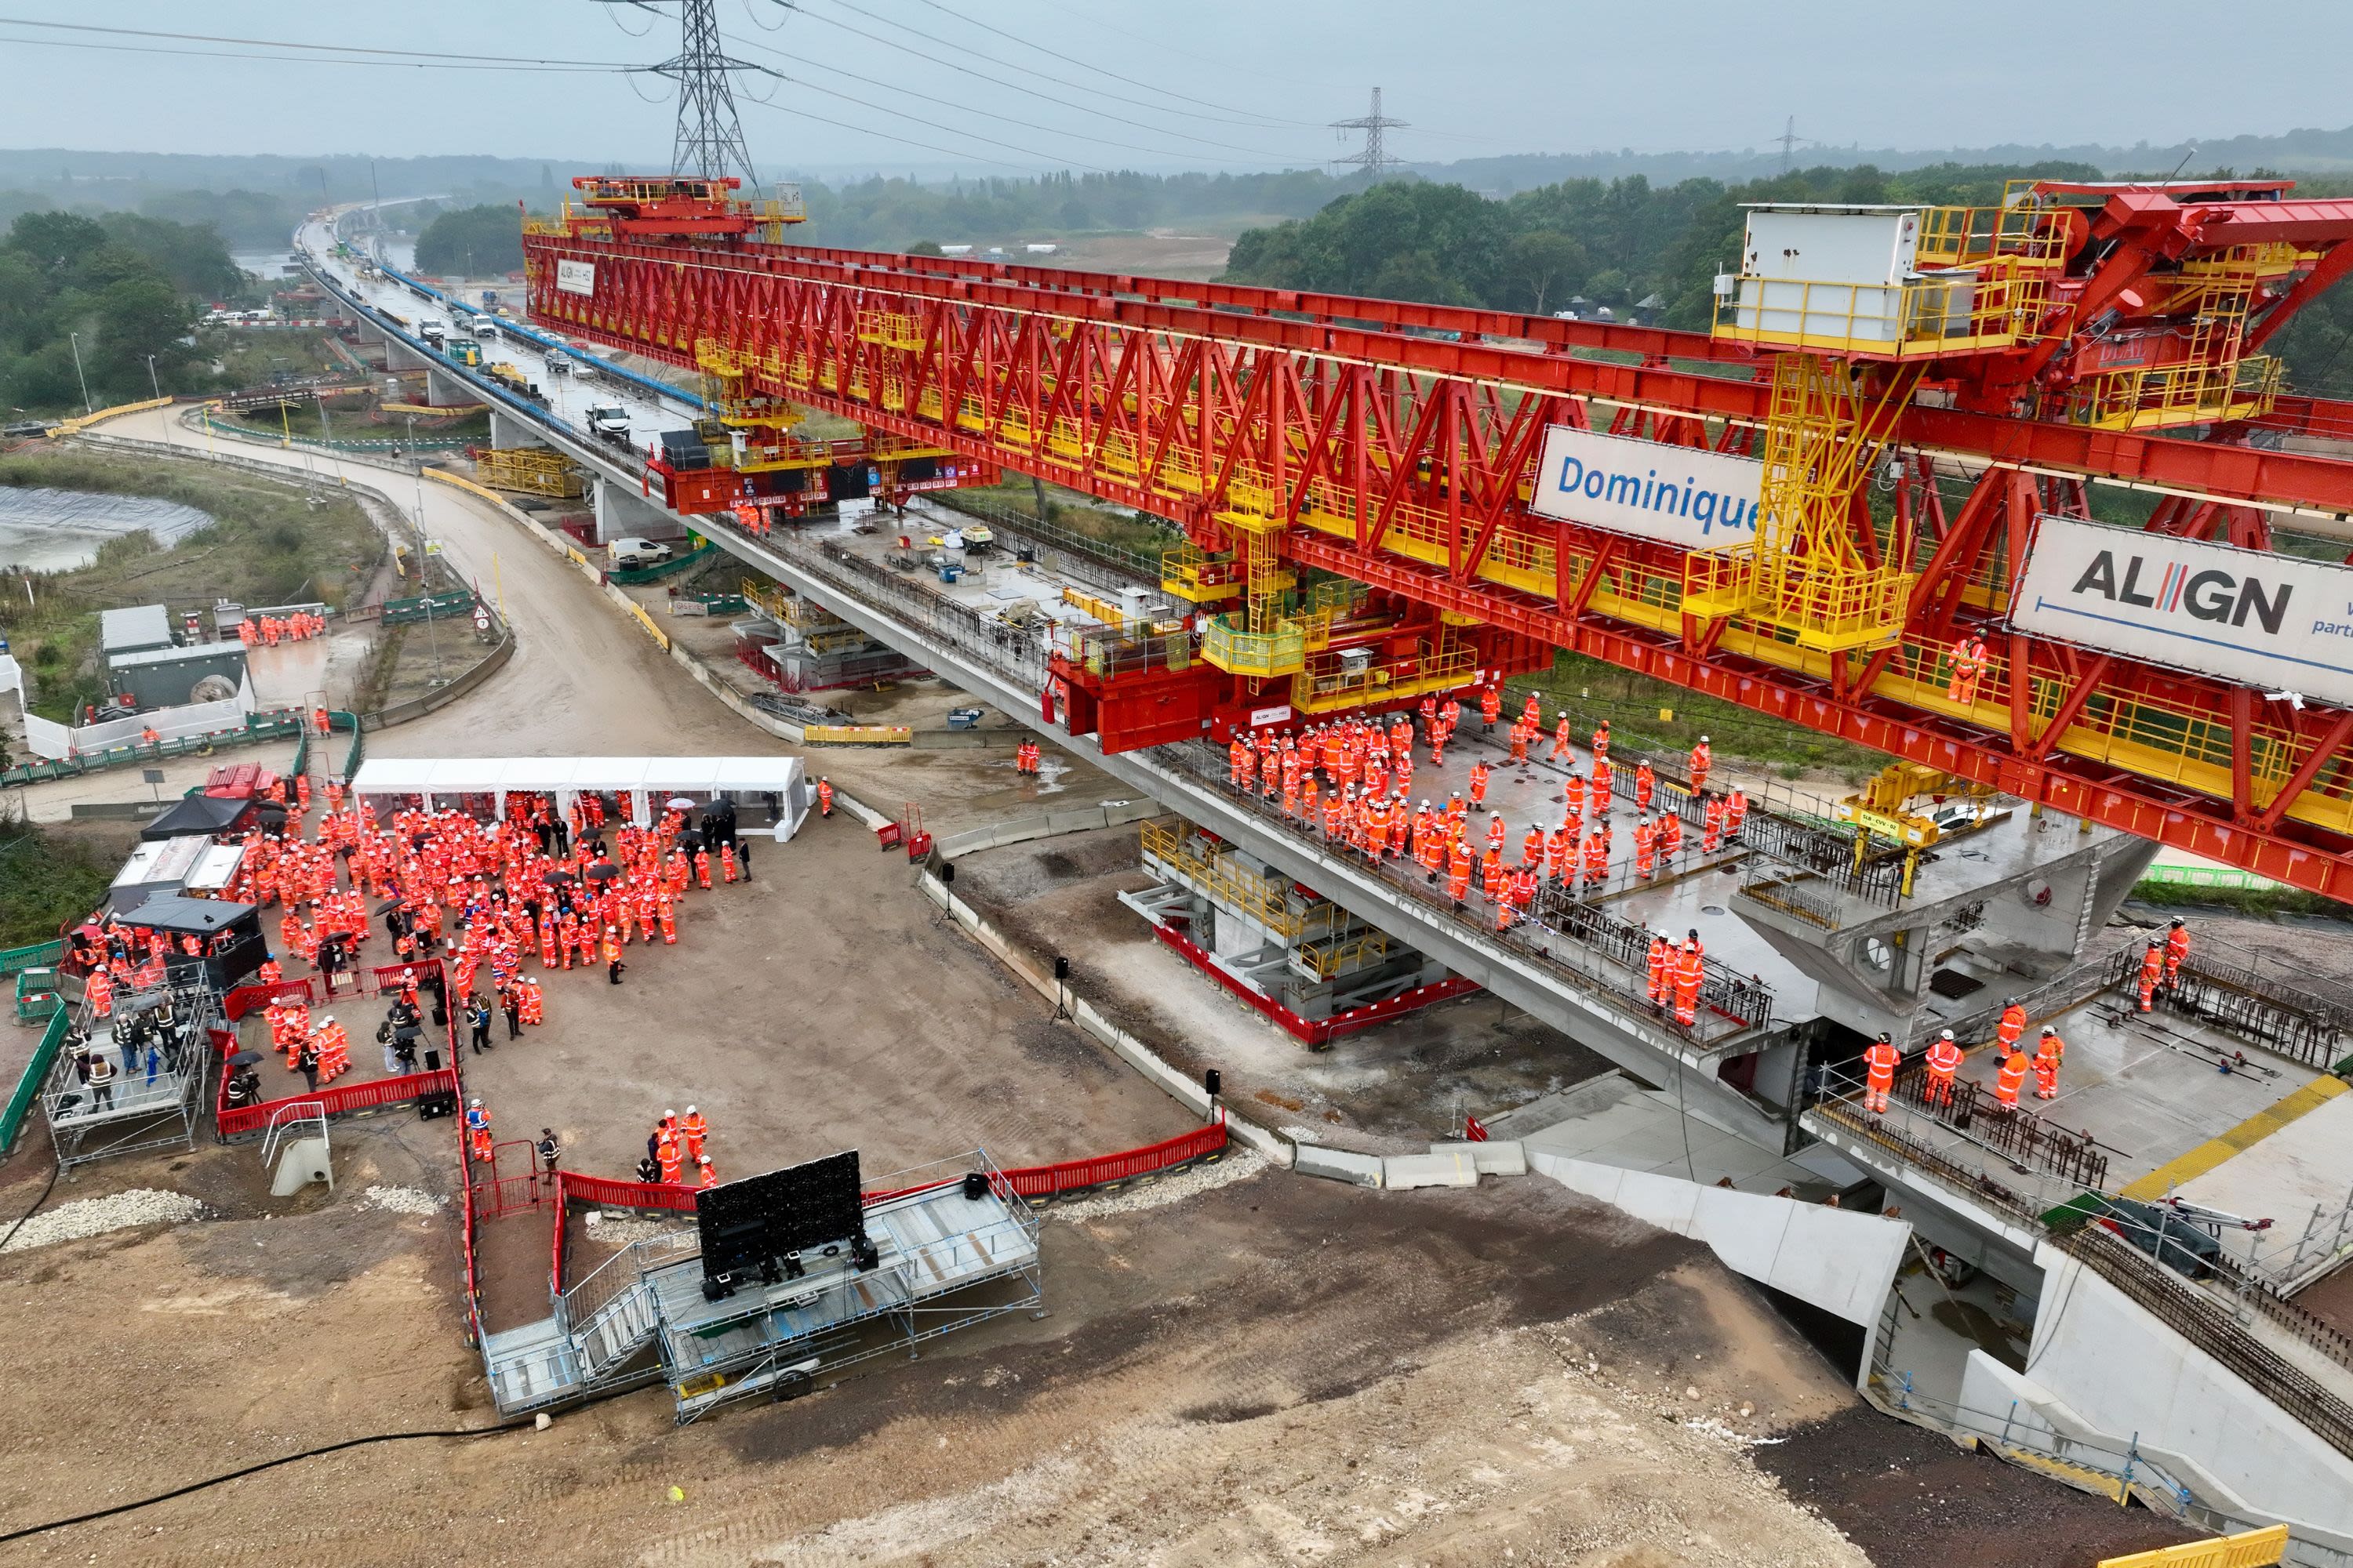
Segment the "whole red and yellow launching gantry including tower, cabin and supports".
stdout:
<svg viewBox="0 0 2353 1568">
<path fill-rule="evenodd" d="M 576 183 L 525 235 L 536 317 L 704 369 L 779 451 L 824 409 L 1186 529 L 1198 656 L 1056 658 L 1111 750 L 1574 649 L 2353 898 L 2353 569 L 2273 552 L 2353 541 L 2353 407 L 2261 353 L 2353 268 L 2353 202 L 1758 207 L 1713 329 L 1668 331 L 821 249 L 718 181 Z M 1595 494 L 1600 437 L 1647 447 Z M 1699 531 L 1701 470 L 1753 529 Z"/>
</svg>

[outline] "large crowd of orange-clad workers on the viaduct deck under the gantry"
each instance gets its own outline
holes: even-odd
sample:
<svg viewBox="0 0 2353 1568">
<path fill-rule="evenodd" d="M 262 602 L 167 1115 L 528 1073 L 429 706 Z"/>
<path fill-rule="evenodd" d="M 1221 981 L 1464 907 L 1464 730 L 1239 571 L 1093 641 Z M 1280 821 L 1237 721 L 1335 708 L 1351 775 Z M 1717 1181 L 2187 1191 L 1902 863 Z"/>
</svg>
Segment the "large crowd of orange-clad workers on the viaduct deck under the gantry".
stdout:
<svg viewBox="0 0 2353 1568">
<path fill-rule="evenodd" d="M 1501 717 L 1497 686 L 1485 686 L 1478 696 L 1482 729 L 1492 729 Z M 1445 764 L 1445 745 L 1461 722 L 1461 701 L 1435 696 L 1421 698 L 1421 741 L 1431 748 L 1431 764 Z M 1511 726 L 1511 757 L 1527 762 L 1527 748 L 1544 733 L 1537 696 L 1529 693 L 1520 717 Z M 1553 726 L 1553 757 L 1572 757 L 1569 715 L 1562 712 Z M 1287 818 L 1318 827 L 1327 844 L 1346 844 L 1362 856 L 1398 858 L 1419 865 L 1431 886 L 1445 879 L 1447 898 L 1464 905 L 1473 882 L 1482 898 L 1494 905 L 1497 931 L 1525 919 L 1546 882 L 1572 889 L 1598 889 L 1609 875 L 1614 830 L 1609 809 L 1617 795 L 1617 773 L 1609 762 L 1609 722 L 1605 719 L 1591 736 L 1593 766 L 1588 773 L 1572 771 L 1562 785 L 1562 820 L 1546 830 L 1529 825 L 1518 839 L 1504 818 L 1487 806 L 1492 766 L 1480 759 L 1471 764 L 1466 792 L 1449 795 L 1442 804 L 1424 797 L 1412 804 L 1414 785 L 1414 724 L 1405 712 L 1381 717 L 1348 717 L 1304 729 L 1252 729 L 1235 731 L 1226 748 L 1228 783 L 1268 802 L 1280 802 Z M 1711 795 L 1706 790 L 1711 769 L 1708 738 L 1701 736 L 1689 757 L 1689 795 L 1699 802 L 1701 851 L 1715 853 L 1727 839 L 1737 839 L 1748 816 L 1748 797 L 1739 788 Z M 1671 870 L 1685 846 L 1680 811 L 1661 809 L 1652 813 L 1657 771 L 1642 759 L 1633 773 L 1635 825 L 1633 825 L 1633 875 L 1649 882 L 1661 870 Z M 1591 804 L 1591 816 L 1588 816 Z M 1480 835 L 1471 832 L 1471 811 L 1487 816 Z"/>
</svg>

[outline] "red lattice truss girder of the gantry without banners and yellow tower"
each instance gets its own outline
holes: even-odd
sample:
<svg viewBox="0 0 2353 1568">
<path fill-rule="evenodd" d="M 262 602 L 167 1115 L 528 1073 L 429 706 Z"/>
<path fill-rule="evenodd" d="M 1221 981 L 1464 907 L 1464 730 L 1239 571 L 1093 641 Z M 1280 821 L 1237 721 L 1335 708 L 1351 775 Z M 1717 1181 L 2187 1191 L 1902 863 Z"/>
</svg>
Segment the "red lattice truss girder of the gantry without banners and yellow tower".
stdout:
<svg viewBox="0 0 2353 1568">
<path fill-rule="evenodd" d="M 2061 284 L 2068 320 L 2129 315 L 2151 275 L 2224 254 L 2228 230 L 2301 247 L 2252 317 L 2259 343 L 2353 266 L 2353 244 L 2337 244 L 2353 237 L 2353 202 L 2275 188 L 2242 200 L 2257 195 L 2089 202 L 2080 221 L 2099 247 L 2085 254 L 2099 261 Z M 2353 898 L 2353 712 L 2026 637 L 2002 618 L 2033 517 L 2089 515 L 2092 482 L 2155 494 L 2148 527 L 2179 536 L 2264 548 L 2273 512 L 2344 531 L 2353 461 L 2275 442 L 2353 433 L 2346 404 L 2280 397 L 2191 440 L 2021 411 L 2064 397 L 2066 353 L 2002 360 L 2007 381 L 1932 371 L 1937 390 L 1892 440 L 1892 503 L 1922 567 L 1904 635 L 1826 654 L 1737 616 L 1680 614 L 1678 548 L 1525 505 L 1553 423 L 1751 451 L 1769 388 L 1739 343 L 967 259 L 621 240 L 579 221 L 529 233 L 525 252 L 532 315 L 567 331 L 727 364 L 746 390 L 1169 517 L 1205 550 L 1235 543 L 1219 512 L 1271 496 L 1297 564 Z M 558 287 L 558 261 L 588 263 L 588 292 L 579 268 Z M 2066 348 L 2071 331 L 2052 336 Z M 1857 524 L 1871 538 L 1864 498 Z M 1962 630 L 1993 649 L 1967 703 L 1939 670 Z"/>
</svg>

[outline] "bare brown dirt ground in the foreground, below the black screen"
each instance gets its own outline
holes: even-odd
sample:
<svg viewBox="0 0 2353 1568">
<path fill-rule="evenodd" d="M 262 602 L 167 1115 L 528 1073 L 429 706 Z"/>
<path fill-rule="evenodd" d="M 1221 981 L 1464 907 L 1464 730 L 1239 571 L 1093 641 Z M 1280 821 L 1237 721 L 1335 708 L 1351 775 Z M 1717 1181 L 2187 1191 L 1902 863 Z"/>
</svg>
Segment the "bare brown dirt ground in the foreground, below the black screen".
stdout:
<svg viewBox="0 0 2353 1568">
<path fill-rule="evenodd" d="M 104 1300 L 127 1328 L 75 1359 L 73 1399 L 16 1406 L 0 1526 L 487 1425 L 454 1218 L 358 1197 L 362 1178 L 431 1180 L 438 1138 L 419 1152 L 402 1124 L 367 1124 L 351 1143 L 365 1171 L 294 1213 L 256 1218 L 207 1157 L 176 1180 L 224 1218 L 0 1262 L 12 1387 L 61 1375 L 61 1300 Z M 2153 1537 L 2146 1516 L 1854 1415 L 1704 1248 L 1534 1178 L 1372 1194 L 1264 1173 L 1049 1218 L 1045 1286 L 1042 1321 L 800 1403 L 675 1429 L 654 1389 L 548 1432 L 355 1448 L 7 1561 L 2014 1568 Z M 1791 1441 L 1751 1446 L 1772 1436 Z M 1953 1507 L 1889 1516 L 1889 1465 Z"/>
</svg>

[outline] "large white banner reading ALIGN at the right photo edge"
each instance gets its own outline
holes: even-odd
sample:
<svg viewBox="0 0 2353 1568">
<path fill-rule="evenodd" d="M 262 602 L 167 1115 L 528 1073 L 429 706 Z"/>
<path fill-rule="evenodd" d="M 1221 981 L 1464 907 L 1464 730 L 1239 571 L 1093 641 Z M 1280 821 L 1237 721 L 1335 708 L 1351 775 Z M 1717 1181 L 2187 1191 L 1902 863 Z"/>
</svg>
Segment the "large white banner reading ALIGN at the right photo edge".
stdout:
<svg viewBox="0 0 2353 1568">
<path fill-rule="evenodd" d="M 2101 654 L 2353 703 L 2353 567 L 2040 517 L 2009 623 Z"/>
</svg>

